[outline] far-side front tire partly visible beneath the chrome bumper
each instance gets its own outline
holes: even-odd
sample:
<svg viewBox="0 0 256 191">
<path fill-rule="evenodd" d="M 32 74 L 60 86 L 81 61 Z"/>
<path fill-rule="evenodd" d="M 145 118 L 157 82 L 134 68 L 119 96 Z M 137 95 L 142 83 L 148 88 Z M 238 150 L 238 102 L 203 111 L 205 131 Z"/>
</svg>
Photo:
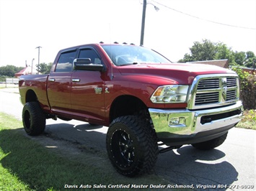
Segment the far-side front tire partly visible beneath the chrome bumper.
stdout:
<svg viewBox="0 0 256 191">
<path fill-rule="evenodd" d="M 224 141 L 226 140 L 226 136 L 228 135 L 228 133 L 217 137 L 216 139 L 212 139 L 210 141 L 204 141 L 201 143 L 197 143 L 197 144 L 192 144 L 192 146 L 194 146 L 196 149 L 200 149 L 200 150 L 211 150 L 216 148 L 217 146 L 220 146 L 221 144 L 224 143 Z"/>
</svg>

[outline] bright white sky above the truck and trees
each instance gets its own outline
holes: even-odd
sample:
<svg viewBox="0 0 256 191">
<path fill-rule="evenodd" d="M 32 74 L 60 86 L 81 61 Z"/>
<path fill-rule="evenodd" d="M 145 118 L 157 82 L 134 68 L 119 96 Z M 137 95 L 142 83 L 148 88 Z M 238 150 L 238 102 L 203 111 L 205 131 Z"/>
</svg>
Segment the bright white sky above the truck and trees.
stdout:
<svg viewBox="0 0 256 191">
<path fill-rule="evenodd" d="M 256 55 L 255 0 L 147 0 L 144 47 L 173 62 L 196 41 Z M 159 11 L 154 9 L 159 8 Z M 140 44 L 143 0 L 0 0 L 0 66 L 53 62 L 88 43 Z"/>
</svg>

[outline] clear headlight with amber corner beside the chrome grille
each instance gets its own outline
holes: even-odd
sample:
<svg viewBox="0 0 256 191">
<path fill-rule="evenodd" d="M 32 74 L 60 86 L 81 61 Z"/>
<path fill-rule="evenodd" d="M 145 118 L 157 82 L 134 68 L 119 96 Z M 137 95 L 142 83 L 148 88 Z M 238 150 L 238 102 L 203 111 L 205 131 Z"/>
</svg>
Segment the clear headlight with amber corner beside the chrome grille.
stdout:
<svg viewBox="0 0 256 191">
<path fill-rule="evenodd" d="M 163 85 L 159 86 L 151 95 L 153 103 L 185 103 L 188 85 Z"/>
</svg>

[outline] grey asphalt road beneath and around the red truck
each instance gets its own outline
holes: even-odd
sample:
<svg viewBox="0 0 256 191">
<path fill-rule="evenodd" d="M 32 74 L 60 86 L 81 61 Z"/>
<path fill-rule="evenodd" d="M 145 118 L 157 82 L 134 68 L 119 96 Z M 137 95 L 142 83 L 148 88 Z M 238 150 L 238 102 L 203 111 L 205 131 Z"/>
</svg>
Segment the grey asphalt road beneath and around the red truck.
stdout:
<svg viewBox="0 0 256 191">
<path fill-rule="evenodd" d="M 0 111 L 22 119 L 22 104 L 19 102 L 17 88 L 0 89 Z M 106 152 L 105 126 L 50 119 L 45 132 L 55 139 Z M 177 185 L 193 185 L 196 190 L 211 190 L 210 187 L 216 187 L 217 190 L 256 190 L 255 148 L 256 131 L 233 128 L 224 144 L 212 151 L 198 151 L 186 145 L 159 154 L 154 172 Z M 197 189 L 200 185 L 201 189 Z M 229 185 L 233 188 L 225 188 Z M 253 186 L 254 189 L 244 189 L 247 186 Z"/>
</svg>

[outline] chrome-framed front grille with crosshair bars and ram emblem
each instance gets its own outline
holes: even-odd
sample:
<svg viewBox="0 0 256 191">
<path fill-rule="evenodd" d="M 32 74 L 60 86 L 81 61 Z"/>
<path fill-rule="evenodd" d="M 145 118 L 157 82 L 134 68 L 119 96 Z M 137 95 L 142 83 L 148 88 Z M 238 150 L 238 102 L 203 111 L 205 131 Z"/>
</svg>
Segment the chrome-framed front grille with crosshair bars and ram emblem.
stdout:
<svg viewBox="0 0 256 191">
<path fill-rule="evenodd" d="M 223 106 L 239 100 L 237 75 L 202 75 L 194 82 L 190 108 Z"/>
</svg>

